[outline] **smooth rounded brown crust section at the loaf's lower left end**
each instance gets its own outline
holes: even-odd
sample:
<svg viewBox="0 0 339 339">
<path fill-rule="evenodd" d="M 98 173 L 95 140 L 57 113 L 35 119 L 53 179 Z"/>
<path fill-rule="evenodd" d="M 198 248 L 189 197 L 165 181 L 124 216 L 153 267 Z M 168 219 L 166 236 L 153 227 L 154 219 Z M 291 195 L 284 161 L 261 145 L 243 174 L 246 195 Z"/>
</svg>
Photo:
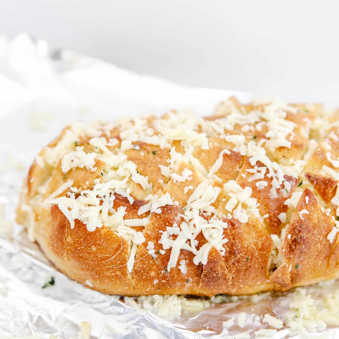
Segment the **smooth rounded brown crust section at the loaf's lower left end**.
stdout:
<svg viewBox="0 0 339 339">
<path fill-rule="evenodd" d="M 53 262 L 61 271 L 83 284 L 89 280 L 94 289 L 104 293 L 133 294 L 125 239 L 106 227 L 88 232 L 80 221 L 72 229 L 56 205 L 51 208 L 50 218 L 46 234 L 39 234 L 37 240 L 47 255 L 56 258 Z"/>
</svg>

